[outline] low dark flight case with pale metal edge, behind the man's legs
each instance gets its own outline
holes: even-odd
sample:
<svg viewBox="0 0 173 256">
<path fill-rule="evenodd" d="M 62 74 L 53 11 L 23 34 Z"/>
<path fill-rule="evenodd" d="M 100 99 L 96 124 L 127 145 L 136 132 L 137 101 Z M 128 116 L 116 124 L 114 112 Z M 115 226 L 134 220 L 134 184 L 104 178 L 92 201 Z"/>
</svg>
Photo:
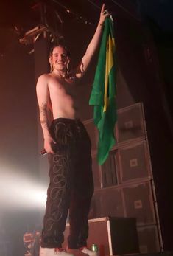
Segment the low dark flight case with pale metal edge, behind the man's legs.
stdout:
<svg viewBox="0 0 173 256">
<path fill-rule="evenodd" d="M 68 234 L 69 224 L 66 224 L 64 248 Z M 99 256 L 137 254 L 139 247 L 135 218 L 103 217 L 89 220 L 87 243 L 88 248 L 96 244 Z"/>
</svg>

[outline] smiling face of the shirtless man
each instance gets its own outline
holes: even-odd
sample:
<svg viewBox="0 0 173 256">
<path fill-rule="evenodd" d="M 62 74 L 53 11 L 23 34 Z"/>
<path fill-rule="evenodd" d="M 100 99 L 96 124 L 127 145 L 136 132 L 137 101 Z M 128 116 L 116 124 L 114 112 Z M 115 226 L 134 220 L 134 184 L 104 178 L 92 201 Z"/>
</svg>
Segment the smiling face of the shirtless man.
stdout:
<svg viewBox="0 0 173 256">
<path fill-rule="evenodd" d="M 66 49 L 64 49 L 61 46 L 56 46 L 53 49 L 53 52 L 49 61 L 52 64 L 53 69 L 57 71 L 65 71 L 69 62 Z"/>
</svg>

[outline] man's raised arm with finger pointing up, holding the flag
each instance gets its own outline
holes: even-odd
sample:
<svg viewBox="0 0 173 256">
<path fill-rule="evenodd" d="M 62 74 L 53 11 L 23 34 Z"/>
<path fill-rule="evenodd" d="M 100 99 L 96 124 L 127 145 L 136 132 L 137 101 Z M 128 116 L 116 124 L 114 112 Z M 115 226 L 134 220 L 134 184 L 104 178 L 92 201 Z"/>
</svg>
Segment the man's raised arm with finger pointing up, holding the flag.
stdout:
<svg viewBox="0 0 173 256">
<path fill-rule="evenodd" d="M 94 53 L 96 52 L 97 47 L 99 46 L 99 41 L 102 35 L 102 28 L 103 24 L 105 22 L 105 19 L 110 14 L 105 10 L 105 4 L 102 5 L 102 10 L 100 13 L 99 23 L 96 27 L 96 32 L 93 35 L 93 38 L 91 39 L 90 44 L 88 45 L 85 55 L 82 58 L 82 62 L 80 63 L 79 69 L 77 70 L 76 76 L 78 78 L 82 77 L 84 75 L 86 69 L 88 68 L 91 58 L 93 57 Z"/>
</svg>

